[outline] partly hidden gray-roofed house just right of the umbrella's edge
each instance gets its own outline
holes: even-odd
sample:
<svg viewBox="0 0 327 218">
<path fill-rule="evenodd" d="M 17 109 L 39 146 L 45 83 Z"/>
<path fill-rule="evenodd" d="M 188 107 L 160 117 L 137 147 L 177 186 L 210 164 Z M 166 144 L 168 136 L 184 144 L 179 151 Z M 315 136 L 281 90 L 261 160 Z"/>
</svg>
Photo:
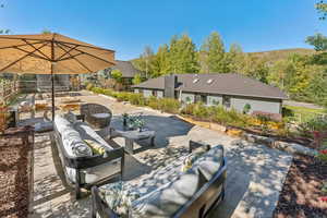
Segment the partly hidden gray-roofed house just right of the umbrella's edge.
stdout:
<svg viewBox="0 0 327 218">
<path fill-rule="evenodd" d="M 136 74 L 142 75 L 142 72 L 138 71 L 131 61 L 116 60 L 116 65 L 108 69 L 109 74 L 112 70 L 119 70 L 122 73 L 122 85 L 126 88 L 131 87 L 133 84 L 132 80 Z"/>
</svg>

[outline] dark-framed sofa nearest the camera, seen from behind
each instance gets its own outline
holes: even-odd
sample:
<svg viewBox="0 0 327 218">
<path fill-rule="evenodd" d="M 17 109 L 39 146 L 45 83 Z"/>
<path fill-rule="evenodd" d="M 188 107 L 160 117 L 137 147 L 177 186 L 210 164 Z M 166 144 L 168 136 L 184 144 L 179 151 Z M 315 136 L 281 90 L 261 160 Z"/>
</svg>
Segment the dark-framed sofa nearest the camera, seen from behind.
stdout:
<svg viewBox="0 0 327 218">
<path fill-rule="evenodd" d="M 191 141 L 187 158 L 193 150 L 197 153 L 193 148 L 198 146 L 208 147 Z M 225 196 L 223 147 L 218 145 L 202 153 L 191 168 L 181 171 L 184 162 L 185 156 L 141 180 L 94 186 L 92 217 L 206 217 Z"/>
</svg>

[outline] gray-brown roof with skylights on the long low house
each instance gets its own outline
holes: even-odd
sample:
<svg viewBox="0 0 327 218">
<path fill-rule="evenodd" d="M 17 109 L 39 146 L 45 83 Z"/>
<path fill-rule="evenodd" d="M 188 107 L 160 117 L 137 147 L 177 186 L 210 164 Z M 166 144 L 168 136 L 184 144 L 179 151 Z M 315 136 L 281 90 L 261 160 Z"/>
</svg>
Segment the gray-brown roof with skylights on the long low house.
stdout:
<svg viewBox="0 0 327 218">
<path fill-rule="evenodd" d="M 287 99 L 287 95 L 277 87 L 239 73 L 208 73 L 208 74 L 175 74 L 177 89 L 190 93 L 205 93 L 217 95 L 235 95 L 247 97 Z M 195 78 L 197 81 L 195 82 Z M 211 80 L 211 82 L 208 82 Z M 195 83 L 194 83 L 195 82 Z M 134 88 L 165 89 L 165 77 L 148 80 Z"/>
</svg>

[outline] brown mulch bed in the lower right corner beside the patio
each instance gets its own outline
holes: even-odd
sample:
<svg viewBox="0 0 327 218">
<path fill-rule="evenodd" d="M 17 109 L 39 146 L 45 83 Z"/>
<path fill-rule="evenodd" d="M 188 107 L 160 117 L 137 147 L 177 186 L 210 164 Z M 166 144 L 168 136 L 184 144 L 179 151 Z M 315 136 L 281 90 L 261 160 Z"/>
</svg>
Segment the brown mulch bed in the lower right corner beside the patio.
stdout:
<svg viewBox="0 0 327 218">
<path fill-rule="evenodd" d="M 327 202 L 320 198 L 327 181 L 327 164 L 313 157 L 295 156 L 286 178 L 275 218 L 327 217 Z"/>
</svg>

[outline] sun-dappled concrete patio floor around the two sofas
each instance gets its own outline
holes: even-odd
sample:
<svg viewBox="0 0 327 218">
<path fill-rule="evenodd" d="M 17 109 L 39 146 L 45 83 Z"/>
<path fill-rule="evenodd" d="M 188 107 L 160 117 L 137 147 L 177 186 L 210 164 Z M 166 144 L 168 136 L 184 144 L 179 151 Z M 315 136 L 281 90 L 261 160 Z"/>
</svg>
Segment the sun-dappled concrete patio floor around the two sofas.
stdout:
<svg viewBox="0 0 327 218">
<path fill-rule="evenodd" d="M 84 93 L 85 94 L 85 93 Z M 190 140 L 222 144 L 228 158 L 226 201 L 210 217 L 271 217 L 292 157 L 263 145 L 253 145 L 226 134 L 194 126 L 174 116 L 112 101 L 100 96 L 81 96 L 84 102 L 107 106 L 117 117 L 144 112 L 149 129 L 157 132 L 156 147 L 141 146 L 126 157 L 125 180 L 140 180 L 152 170 L 186 154 Z M 118 120 L 114 120 L 114 125 Z M 122 143 L 120 138 L 117 143 Z M 89 217 L 90 199 L 74 201 L 60 179 L 60 162 L 49 133 L 36 135 L 34 202 L 31 217 Z"/>
</svg>

